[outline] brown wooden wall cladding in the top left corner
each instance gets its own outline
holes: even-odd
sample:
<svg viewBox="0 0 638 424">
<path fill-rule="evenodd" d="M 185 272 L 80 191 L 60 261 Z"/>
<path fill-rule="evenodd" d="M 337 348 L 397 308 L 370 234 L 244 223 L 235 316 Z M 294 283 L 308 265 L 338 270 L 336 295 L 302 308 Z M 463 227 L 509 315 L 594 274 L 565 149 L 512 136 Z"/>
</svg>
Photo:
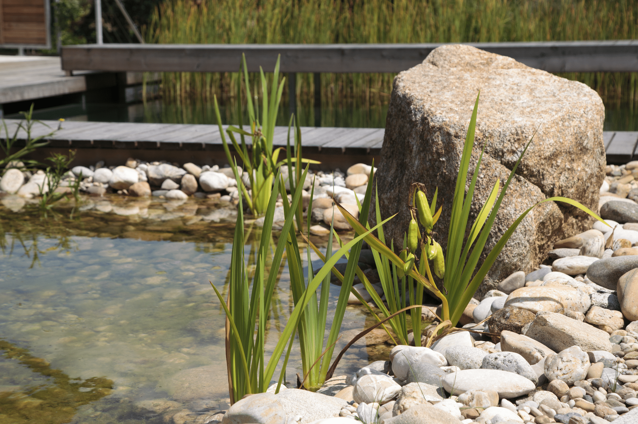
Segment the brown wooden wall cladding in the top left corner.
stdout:
<svg viewBox="0 0 638 424">
<path fill-rule="evenodd" d="M 0 46 L 50 48 L 49 0 L 0 0 Z"/>
</svg>

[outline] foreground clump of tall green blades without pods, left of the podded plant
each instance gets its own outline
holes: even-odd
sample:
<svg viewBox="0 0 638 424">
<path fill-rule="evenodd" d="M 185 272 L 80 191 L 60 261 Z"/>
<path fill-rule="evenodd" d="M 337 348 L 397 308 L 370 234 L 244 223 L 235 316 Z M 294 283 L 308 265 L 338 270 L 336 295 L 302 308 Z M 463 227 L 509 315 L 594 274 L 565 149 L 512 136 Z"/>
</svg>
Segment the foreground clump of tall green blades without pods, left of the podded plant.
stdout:
<svg viewBox="0 0 638 424">
<path fill-rule="evenodd" d="M 298 127 L 297 133 L 299 133 Z M 290 146 L 290 139 L 288 140 L 288 145 Z M 288 164 L 288 169 L 291 170 L 288 173 L 288 178 L 292 200 L 288 202 L 285 182 L 281 174 L 281 165 L 279 165 L 276 167 L 278 169 L 276 178 L 272 180 L 273 186 L 265 209 L 263 229 L 255 254 L 256 260 L 251 266 L 251 269 L 254 269 L 253 274 L 251 275 L 248 271 L 244 255 L 246 230 L 244 229 L 243 199 L 247 197 L 247 194 L 243 193 L 243 195 L 239 196 L 239 204 L 237 206 L 237 222 L 235 223 L 230 270 L 227 278 L 227 298 L 224 299 L 217 287 L 213 285 L 226 313 L 226 366 L 228 367 L 231 402 L 241 399 L 247 393 L 265 391 L 283 355 L 284 363 L 279 373 L 276 388 L 276 391 L 279 390 L 283 383 L 286 364 L 295 334 L 299 334 L 304 373 L 300 382 L 309 390 L 316 390 L 323 384 L 329 370 L 332 350 L 338 340 L 339 329 L 341 328 L 348 297 L 352 289 L 355 269 L 358 268 L 357 262 L 359 261 L 362 239 L 367 235 L 365 233 L 357 236 L 352 241 L 341 246 L 334 254 L 332 254 L 332 240 L 330 240 L 327 248 L 329 259 L 316 274 L 313 272 L 310 252 L 308 251 L 308 271 L 304 273 L 302 250 L 297 242 L 295 223 L 297 228 L 302 228 L 302 203 L 300 201 L 303 193 L 303 182 L 306 181 L 308 176 L 308 165 L 303 171 L 297 167 L 297 171 L 292 172 L 293 158 L 290 148 L 288 152 L 285 163 Z M 298 138 L 295 139 L 294 153 L 299 160 L 301 156 L 301 141 Z M 237 184 L 241 185 L 242 179 L 239 169 L 237 169 L 237 163 L 233 162 L 232 166 Z M 278 194 L 282 197 L 285 222 L 276 243 L 276 248 L 273 250 L 272 223 Z M 371 197 L 370 187 L 366 193 L 366 200 L 364 200 L 362 214 L 359 218 L 362 222 L 367 222 L 367 208 L 369 208 Z M 310 203 L 309 208 L 311 207 L 312 203 Z M 379 225 L 382 224 L 383 222 Z M 376 228 L 370 231 L 376 230 Z M 309 225 L 306 228 L 306 234 L 309 236 Z M 284 252 L 288 262 L 290 285 L 295 307 L 290 317 L 288 317 L 285 328 L 281 330 L 278 343 L 271 352 L 269 360 L 266 360 L 265 331 L 267 317 L 271 313 L 272 294 L 278 280 Z M 329 274 L 336 262 L 348 252 L 345 281 L 341 285 L 336 310 L 332 314 L 329 336 L 325 339 L 330 287 Z M 265 266 L 267 259 L 269 262 L 268 271 Z M 320 286 L 321 292 L 318 298 L 316 291 Z M 286 345 L 288 346 L 287 349 Z M 284 351 L 286 352 L 284 353 Z"/>
</svg>

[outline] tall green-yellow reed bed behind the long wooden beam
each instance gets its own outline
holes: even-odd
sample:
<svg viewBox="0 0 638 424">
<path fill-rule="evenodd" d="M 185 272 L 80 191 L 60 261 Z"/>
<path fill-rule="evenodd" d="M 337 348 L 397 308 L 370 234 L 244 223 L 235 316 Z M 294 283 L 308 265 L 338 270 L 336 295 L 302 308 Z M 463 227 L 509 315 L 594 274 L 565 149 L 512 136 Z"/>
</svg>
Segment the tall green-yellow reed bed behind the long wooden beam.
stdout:
<svg viewBox="0 0 638 424">
<path fill-rule="evenodd" d="M 167 0 L 145 36 L 152 43 L 439 43 L 638 38 L 631 0 Z M 636 73 L 567 73 L 605 102 L 638 106 Z M 251 84 L 258 82 L 251 75 Z M 323 107 L 388 102 L 391 73 L 323 73 Z M 237 73 L 164 73 L 167 102 L 230 100 Z M 287 98 L 286 85 L 283 98 Z M 297 74 L 297 96 L 312 105 L 313 75 Z M 230 107 L 229 109 L 233 109 Z"/>
</svg>

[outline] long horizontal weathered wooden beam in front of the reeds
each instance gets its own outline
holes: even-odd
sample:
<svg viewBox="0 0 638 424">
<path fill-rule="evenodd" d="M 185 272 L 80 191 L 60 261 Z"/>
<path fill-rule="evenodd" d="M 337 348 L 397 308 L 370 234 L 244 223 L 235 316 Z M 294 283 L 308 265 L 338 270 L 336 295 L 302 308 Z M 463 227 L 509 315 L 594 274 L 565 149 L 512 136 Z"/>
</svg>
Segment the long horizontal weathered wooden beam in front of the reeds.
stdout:
<svg viewBox="0 0 638 424">
<path fill-rule="evenodd" d="M 547 72 L 637 72 L 638 40 L 467 43 Z M 68 45 L 64 70 L 236 72 L 242 53 L 249 72 L 401 72 L 440 43 L 414 44 L 115 44 Z"/>
</svg>

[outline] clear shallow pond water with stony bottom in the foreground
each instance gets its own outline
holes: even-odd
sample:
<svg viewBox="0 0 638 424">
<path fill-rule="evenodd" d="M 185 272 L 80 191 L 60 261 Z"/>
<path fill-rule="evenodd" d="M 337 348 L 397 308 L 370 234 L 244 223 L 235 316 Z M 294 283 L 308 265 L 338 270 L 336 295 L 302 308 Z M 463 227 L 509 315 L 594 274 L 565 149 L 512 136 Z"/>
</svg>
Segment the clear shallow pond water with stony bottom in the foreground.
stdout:
<svg viewBox="0 0 638 424">
<path fill-rule="evenodd" d="M 111 195 L 43 218 L 29 202 L 0 199 L 0 422 L 205 423 L 226 409 L 225 315 L 209 282 L 226 293 L 235 206 Z M 330 308 L 338 294 L 331 285 Z M 273 305 L 266 349 L 292 308 L 287 269 Z M 372 320 L 349 305 L 341 331 Z M 355 344 L 335 375 L 389 349 Z M 288 384 L 297 372 L 298 348 Z"/>
</svg>

